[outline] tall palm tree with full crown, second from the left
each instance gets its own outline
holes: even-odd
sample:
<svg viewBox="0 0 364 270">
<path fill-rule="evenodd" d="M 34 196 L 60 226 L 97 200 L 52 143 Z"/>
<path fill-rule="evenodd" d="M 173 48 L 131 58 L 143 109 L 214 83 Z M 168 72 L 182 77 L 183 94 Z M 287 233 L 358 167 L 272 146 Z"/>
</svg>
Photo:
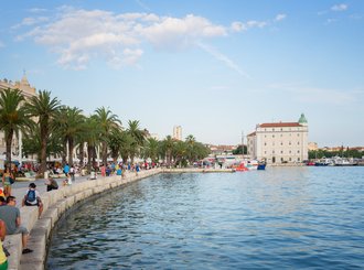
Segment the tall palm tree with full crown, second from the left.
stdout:
<svg viewBox="0 0 364 270">
<path fill-rule="evenodd" d="M 38 118 L 41 131 L 41 168 L 40 173 L 46 170 L 46 144 L 51 133 L 51 122 L 60 108 L 60 101 L 55 97 L 51 99 L 51 91 L 40 90 L 38 96 L 30 98 L 26 109 L 31 117 Z"/>
</svg>

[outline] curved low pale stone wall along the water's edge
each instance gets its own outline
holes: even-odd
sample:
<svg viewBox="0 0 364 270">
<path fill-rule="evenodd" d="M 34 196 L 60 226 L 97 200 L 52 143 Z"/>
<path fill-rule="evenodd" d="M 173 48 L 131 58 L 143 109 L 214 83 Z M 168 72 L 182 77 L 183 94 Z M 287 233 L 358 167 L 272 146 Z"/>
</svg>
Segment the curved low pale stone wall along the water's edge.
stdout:
<svg viewBox="0 0 364 270">
<path fill-rule="evenodd" d="M 31 233 L 28 247 L 33 249 L 33 252 L 22 255 L 20 234 L 7 236 L 4 246 L 10 252 L 10 257 L 8 257 L 9 269 L 44 269 L 46 245 L 50 234 L 62 214 L 76 203 L 104 191 L 115 188 L 126 183 L 148 177 L 160 172 L 162 172 L 161 169 L 141 171 L 138 175 L 135 173 L 129 173 L 125 179 L 121 179 L 119 175 L 113 175 L 75 183 L 57 191 L 41 194 L 44 209 L 40 219 L 38 218 L 38 207 L 20 208 L 21 224 Z"/>
</svg>

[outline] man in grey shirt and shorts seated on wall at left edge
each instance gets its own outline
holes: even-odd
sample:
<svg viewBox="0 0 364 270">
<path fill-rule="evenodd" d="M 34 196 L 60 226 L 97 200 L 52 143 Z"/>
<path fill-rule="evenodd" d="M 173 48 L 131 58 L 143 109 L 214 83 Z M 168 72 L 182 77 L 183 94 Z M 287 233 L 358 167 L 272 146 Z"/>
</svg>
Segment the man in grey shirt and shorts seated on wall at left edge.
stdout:
<svg viewBox="0 0 364 270">
<path fill-rule="evenodd" d="M 21 226 L 20 210 L 15 205 L 17 199 L 14 196 L 7 197 L 7 205 L 0 207 L 0 217 L 6 223 L 7 235 L 22 234 L 22 252 L 29 253 L 33 251 L 26 248 L 29 231 L 25 227 Z"/>
</svg>

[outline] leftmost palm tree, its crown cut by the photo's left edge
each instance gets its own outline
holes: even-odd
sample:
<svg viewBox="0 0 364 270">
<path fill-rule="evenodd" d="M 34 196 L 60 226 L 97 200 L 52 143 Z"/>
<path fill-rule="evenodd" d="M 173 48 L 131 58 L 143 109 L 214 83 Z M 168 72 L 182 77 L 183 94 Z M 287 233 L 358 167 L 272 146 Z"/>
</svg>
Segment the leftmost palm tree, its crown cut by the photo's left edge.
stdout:
<svg viewBox="0 0 364 270">
<path fill-rule="evenodd" d="M 31 119 L 26 116 L 23 105 L 24 97 L 19 89 L 10 88 L 1 91 L 0 95 L 0 130 L 4 131 L 7 145 L 7 163 L 11 163 L 11 142 L 14 134 L 25 131 L 30 127 Z"/>
</svg>

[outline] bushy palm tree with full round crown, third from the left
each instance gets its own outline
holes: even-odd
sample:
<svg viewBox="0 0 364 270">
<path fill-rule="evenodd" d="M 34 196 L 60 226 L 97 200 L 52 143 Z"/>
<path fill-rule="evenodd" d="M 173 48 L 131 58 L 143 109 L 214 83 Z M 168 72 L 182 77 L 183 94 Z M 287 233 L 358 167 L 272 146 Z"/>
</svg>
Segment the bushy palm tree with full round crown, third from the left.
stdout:
<svg viewBox="0 0 364 270">
<path fill-rule="evenodd" d="M 56 132 L 63 138 L 64 149 L 68 144 L 68 164 L 73 164 L 73 151 L 75 147 L 75 140 L 83 131 L 83 123 L 85 117 L 82 115 L 82 110 L 74 107 L 69 108 L 64 106 L 60 108 L 56 114 L 55 125 L 57 127 Z M 64 153 L 64 158 L 66 151 Z"/>
</svg>

